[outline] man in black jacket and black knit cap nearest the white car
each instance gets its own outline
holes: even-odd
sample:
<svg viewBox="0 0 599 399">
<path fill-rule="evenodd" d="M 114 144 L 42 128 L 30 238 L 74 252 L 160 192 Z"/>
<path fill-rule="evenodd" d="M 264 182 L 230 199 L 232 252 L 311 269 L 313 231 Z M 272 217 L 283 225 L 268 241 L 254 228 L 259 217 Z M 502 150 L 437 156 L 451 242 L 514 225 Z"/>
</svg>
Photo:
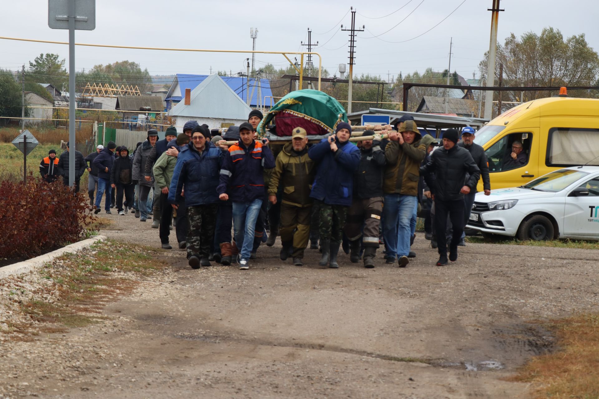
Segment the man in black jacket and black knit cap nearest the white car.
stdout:
<svg viewBox="0 0 599 399">
<path fill-rule="evenodd" d="M 480 178 L 480 169 L 470 152 L 456 145 L 458 138 L 458 130 L 448 129 L 443 133 L 443 148 L 433 151 L 431 160 L 420 167 L 420 174 L 425 176 L 435 202 L 435 227 L 440 255 L 437 266 L 447 264 L 447 214 L 453 225 L 449 260 L 458 259 L 458 243 L 464 231 L 464 194 L 475 190 Z M 435 174 L 434 181 L 431 181 L 428 173 Z M 468 178 L 467 173 L 470 175 Z"/>
</svg>

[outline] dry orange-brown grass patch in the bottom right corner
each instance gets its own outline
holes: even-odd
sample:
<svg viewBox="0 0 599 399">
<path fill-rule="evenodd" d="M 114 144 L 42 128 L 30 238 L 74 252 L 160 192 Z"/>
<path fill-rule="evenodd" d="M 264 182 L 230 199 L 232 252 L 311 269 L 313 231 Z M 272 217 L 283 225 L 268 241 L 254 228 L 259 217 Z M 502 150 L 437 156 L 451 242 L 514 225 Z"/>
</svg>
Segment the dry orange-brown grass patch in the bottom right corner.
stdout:
<svg viewBox="0 0 599 399">
<path fill-rule="evenodd" d="M 533 358 L 509 380 L 533 383 L 535 398 L 599 397 L 599 315 L 554 320 L 560 351 Z"/>
</svg>

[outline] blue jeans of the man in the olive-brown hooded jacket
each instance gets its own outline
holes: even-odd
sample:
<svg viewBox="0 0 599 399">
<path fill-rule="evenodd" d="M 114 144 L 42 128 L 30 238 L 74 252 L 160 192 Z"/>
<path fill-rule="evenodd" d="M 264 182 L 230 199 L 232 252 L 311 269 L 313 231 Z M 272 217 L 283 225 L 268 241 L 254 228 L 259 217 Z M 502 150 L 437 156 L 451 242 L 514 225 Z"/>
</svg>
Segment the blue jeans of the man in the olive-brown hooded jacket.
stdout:
<svg viewBox="0 0 599 399">
<path fill-rule="evenodd" d="M 383 237 L 387 248 L 385 257 L 401 257 L 410 254 L 412 218 L 418 206 L 416 196 L 386 194 L 383 206 Z M 416 223 L 414 223 L 416 227 Z"/>
</svg>

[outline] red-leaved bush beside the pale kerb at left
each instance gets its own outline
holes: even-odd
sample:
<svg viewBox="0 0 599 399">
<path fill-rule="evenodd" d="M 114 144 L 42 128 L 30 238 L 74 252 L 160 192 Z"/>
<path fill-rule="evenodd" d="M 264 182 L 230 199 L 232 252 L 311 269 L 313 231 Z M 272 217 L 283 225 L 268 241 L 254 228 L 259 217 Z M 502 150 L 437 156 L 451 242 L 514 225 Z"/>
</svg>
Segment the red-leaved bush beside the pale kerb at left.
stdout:
<svg viewBox="0 0 599 399">
<path fill-rule="evenodd" d="M 83 194 L 59 179 L 52 184 L 29 173 L 27 183 L 0 182 L 0 260 L 34 257 L 84 236 L 93 221 Z"/>
</svg>

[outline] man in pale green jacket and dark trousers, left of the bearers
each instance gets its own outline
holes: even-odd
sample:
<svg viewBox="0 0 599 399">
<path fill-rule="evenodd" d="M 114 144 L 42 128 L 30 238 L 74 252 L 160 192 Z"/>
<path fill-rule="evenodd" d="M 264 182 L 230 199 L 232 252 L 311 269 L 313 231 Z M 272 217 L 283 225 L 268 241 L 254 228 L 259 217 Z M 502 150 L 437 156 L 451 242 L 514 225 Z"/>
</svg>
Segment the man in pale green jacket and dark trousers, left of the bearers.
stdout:
<svg viewBox="0 0 599 399">
<path fill-rule="evenodd" d="M 183 145 L 189 144 L 189 136 L 184 133 L 181 133 L 177 136 L 177 144 L 167 144 L 167 150 L 170 147 L 179 147 L 177 150 L 180 150 L 180 147 Z M 178 154 L 178 153 L 177 153 Z M 159 236 L 160 241 L 162 243 L 162 248 L 171 249 L 173 248 L 170 243 L 168 243 L 168 236 L 171 232 L 171 219 L 173 218 L 173 207 L 168 202 L 168 188 L 171 186 L 171 179 L 173 178 L 173 172 L 175 170 L 175 165 L 177 164 L 177 157 L 170 156 L 167 154 L 167 151 L 162 153 L 162 155 L 156 160 L 156 163 L 153 167 L 154 179 L 156 181 L 156 185 L 160 188 L 160 209 L 161 209 L 161 218 L 159 225 Z"/>
</svg>

